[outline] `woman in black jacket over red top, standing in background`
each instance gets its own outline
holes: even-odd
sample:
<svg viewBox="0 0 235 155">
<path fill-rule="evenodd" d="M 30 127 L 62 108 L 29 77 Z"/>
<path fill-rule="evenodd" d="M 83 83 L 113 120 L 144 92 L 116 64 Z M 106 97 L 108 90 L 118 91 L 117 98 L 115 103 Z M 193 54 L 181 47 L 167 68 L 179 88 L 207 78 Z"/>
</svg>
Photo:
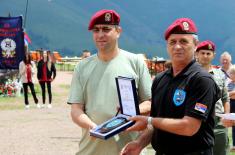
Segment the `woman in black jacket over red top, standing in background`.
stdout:
<svg viewBox="0 0 235 155">
<path fill-rule="evenodd" d="M 51 61 L 50 51 L 43 52 L 43 58 L 38 62 L 37 66 L 37 78 L 42 89 L 42 107 L 45 107 L 46 101 L 46 85 L 49 96 L 48 108 L 52 108 L 52 93 L 51 93 L 51 82 L 56 77 L 56 68 L 54 63 Z"/>
</svg>

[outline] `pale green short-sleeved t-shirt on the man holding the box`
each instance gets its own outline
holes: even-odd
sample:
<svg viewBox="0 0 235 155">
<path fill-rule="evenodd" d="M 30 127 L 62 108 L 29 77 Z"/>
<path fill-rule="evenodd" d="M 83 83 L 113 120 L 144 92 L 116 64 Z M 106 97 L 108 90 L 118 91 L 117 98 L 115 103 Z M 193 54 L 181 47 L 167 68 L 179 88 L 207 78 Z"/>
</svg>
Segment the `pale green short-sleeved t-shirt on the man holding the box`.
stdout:
<svg viewBox="0 0 235 155">
<path fill-rule="evenodd" d="M 68 98 L 69 104 L 84 104 L 85 113 L 97 125 L 115 116 L 119 106 L 115 77 L 134 78 L 139 102 L 151 99 L 151 78 L 143 59 L 119 50 L 108 62 L 97 55 L 88 57 L 76 66 Z M 121 133 L 108 140 L 91 140 L 89 130 L 82 129 L 79 155 L 116 155 L 125 144 L 133 140 L 129 133 Z"/>
</svg>

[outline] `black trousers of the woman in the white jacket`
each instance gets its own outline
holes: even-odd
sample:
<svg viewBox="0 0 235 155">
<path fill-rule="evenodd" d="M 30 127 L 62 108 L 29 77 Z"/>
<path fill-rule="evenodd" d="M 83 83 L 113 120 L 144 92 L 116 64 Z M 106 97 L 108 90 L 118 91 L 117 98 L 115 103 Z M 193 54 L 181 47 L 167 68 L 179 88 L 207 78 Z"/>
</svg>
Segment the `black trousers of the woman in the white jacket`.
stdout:
<svg viewBox="0 0 235 155">
<path fill-rule="evenodd" d="M 24 89 L 24 103 L 25 105 L 28 105 L 29 104 L 29 100 L 28 100 L 28 86 L 31 90 L 31 94 L 33 95 L 33 99 L 34 99 L 34 102 L 37 104 L 38 103 L 38 99 L 36 97 L 36 93 L 35 93 L 35 90 L 34 90 L 34 85 L 32 82 L 29 82 L 29 83 L 23 83 L 23 89 Z"/>
</svg>

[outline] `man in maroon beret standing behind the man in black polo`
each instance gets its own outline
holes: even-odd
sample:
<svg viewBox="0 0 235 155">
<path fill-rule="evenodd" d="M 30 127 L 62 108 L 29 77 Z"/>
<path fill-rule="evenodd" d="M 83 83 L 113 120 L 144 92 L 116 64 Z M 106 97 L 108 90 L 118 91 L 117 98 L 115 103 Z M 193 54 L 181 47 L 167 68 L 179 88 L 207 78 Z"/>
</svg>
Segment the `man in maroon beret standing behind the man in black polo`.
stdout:
<svg viewBox="0 0 235 155">
<path fill-rule="evenodd" d="M 202 65 L 206 71 L 208 71 L 214 78 L 215 82 L 220 88 L 221 98 L 215 104 L 215 113 L 224 114 L 230 112 L 229 95 L 227 86 L 225 84 L 225 75 L 221 69 L 214 68 L 211 65 L 212 60 L 215 57 L 215 44 L 206 40 L 201 42 L 197 46 L 197 58 L 198 63 Z M 215 155 L 228 154 L 229 140 L 228 131 L 220 121 L 220 118 L 215 116 L 215 145 L 213 152 Z"/>
</svg>

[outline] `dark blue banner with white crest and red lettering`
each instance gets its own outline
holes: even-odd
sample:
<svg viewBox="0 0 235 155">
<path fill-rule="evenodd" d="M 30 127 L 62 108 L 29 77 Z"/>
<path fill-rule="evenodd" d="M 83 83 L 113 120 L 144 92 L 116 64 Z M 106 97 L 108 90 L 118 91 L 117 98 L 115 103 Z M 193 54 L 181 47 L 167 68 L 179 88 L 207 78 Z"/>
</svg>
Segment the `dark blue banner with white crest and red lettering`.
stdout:
<svg viewBox="0 0 235 155">
<path fill-rule="evenodd" d="M 18 69 L 24 54 L 22 16 L 0 17 L 0 69 Z"/>
</svg>

